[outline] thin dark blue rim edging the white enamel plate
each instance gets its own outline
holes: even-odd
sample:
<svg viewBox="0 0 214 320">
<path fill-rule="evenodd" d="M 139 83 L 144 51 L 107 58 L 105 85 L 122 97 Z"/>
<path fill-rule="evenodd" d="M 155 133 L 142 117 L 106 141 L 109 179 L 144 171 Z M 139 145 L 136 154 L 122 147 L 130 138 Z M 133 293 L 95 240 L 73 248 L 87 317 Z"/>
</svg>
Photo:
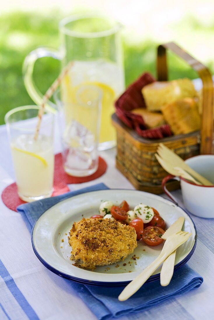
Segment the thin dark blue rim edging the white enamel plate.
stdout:
<svg viewBox="0 0 214 320">
<path fill-rule="evenodd" d="M 154 196 L 157 196 L 161 199 L 164 199 L 164 200 L 167 200 L 168 202 L 171 202 L 173 203 L 176 207 L 182 209 L 187 215 L 188 217 L 190 218 L 190 220 L 192 221 L 193 223 L 193 227 L 195 229 L 195 237 L 194 237 L 194 245 L 193 245 L 193 248 L 192 250 L 188 253 L 188 255 L 183 259 L 181 260 L 180 262 L 178 262 L 175 266 L 174 266 L 174 271 L 178 270 L 179 268 L 181 268 L 184 264 L 187 263 L 187 261 L 192 257 L 194 251 L 195 251 L 195 248 L 196 248 L 196 244 L 197 244 L 197 230 L 196 230 L 196 226 L 195 226 L 195 223 L 192 219 L 192 217 L 189 215 L 188 211 L 185 210 L 184 208 L 182 208 L 180 205 L 176 204 L 175 202 L 173 202 L 172 200 L 170 199 L 166 199 L 164 198 L 163 196 L 160 196 L 160 195 L 156 195 L 156 194 L 153 194 L 153 193 L 150 193 L 150 192 L 146 192 L 146 191 L 141 191 L 141 190 L 136 190 L 136 189 L 123 189 L 123 188 L 114 188 L 114 189 L 98 189 L 98 190 L 90 190 L 90 191 L 86 191 L 86 192 L 82 192 L 82 193 L 79 193 L 77 195 L 74 195 L 74 196 L 68 196 L 68 197 L 65 197 L 63 199 L 60 199 L 57 203 L 51 205 L 47 210 L 51 209 L 52 207 L 54 207 L 55 205 L 69 199 L 69 198 L 72 198 L 72 197 L 76 197 L 76 196 L 80 196 L 82 194 L 85 194 L 85 193 L 90 193 L 90 192 L 99 192 L 99 191 L 105 191 L 105 190 L 124 190 L 124 191 L 140 191 L 140 192 L 144 192 L 148 195 L 154 195 Z M 75 191 L 78 191 L 78 190 L 75 190 Z M 40 217 L 45 213 L 47 212 L 47 210 L 45 210 L 41 215 Z M 40 219 L 39 217 L 39 219 Z M 38 219 L 38 220 L 39 220 Z M 69 279 L 69 280 L 72 280 L 74 282 L 77 282 L 77 283 L 80 283 L 80 284 L 86 284 L 86 285 L 94 285 L 94 286 L 102 286 L 102 287 L 121 287 L 121 286 L 124 286 L 124 285 L 127 285 L 129 284 L 131 281 L 118 281 L 118 282 L 106 282 L 106 281 L 93 281 L 93 280 L 86 280 L 86 279 L 81 279 L 81 278 L 78 278 L 78 277 L 75 277 L 75 276 L 70 276 L 64 272 L 61 272 L 59 270 L 57 270 L 56 268 L 52 267 L 49 263 L 47 263 L 41 256 L 40 254 L 37 252 L 36 250 L 36 247 L 34 245 L 34 242 L 33 242 L 33 231 L 34 231 L 34 228 L 35 228 L 35 225 L 36 223 L 38 222 L 35 221 L 34 225 L 33 225 L 33 228 L 31 230 L 31 244 L 32 244 L 32 248 L 33 248 L 33 251 L 36 255 L 36 257 L 39 259 L 39 261 L 47 268 L 49 269 L 50 271 L 52 271 L 53 273 L 55 273 L 56 275 L 58 276 L 61 276 L 65 279 Z M 145 283 L 150 283 L 150 282 L 153 282 L 155 280 L 158 280 L 160 279 L 160 273 L 156 274 L 156 275 L 152 275 L 149 277 L 149 279 L 145 282 Z"/>
</svg>

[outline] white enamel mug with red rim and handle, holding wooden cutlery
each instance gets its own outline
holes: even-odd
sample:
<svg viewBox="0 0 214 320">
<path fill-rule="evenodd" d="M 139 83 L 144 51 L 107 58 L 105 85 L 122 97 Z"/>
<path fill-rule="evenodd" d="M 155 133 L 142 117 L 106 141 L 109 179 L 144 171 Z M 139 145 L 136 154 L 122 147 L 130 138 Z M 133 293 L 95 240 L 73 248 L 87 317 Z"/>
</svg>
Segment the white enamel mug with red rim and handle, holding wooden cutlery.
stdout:
<svg viewBox="0 0 214 320">
<path fill-rule="evenodd" d="M 214 155 L 194 156 L 185 163 L 214 184 Z M 163 179 L 162 188 L 175 203 L 175 197 L 166 188 L 169 180 L 180 180 L 184 206 L 189 212 L 201 218 L 214 218 L 214 186 L 195 185 L 184 178 L 169 175 Z"/>
</svg>

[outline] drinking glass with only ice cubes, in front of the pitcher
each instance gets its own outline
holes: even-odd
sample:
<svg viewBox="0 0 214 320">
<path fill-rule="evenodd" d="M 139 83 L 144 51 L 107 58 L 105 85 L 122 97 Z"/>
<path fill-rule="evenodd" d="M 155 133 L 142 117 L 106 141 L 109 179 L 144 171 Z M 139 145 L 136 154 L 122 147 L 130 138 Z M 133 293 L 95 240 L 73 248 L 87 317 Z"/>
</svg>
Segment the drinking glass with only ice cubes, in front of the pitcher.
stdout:
<svg viewBox="0 0 214 320">
<path fill-rule="evenodd" d="M 63 90 L 54 98 L 62 141 L 64 170 L 76 177 L 89 176 L 98 168 L 98 139 L 102 91 L 94 85 L 78 87 L 71 100 L 62 100 Z"/>
</svg>

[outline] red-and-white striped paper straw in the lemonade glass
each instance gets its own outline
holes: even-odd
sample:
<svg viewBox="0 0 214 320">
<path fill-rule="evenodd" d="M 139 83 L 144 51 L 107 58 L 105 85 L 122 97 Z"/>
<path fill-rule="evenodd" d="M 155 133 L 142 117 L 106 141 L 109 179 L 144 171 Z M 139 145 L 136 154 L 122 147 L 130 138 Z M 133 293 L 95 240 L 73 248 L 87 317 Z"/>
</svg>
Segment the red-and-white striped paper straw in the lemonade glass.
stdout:
<svg viewBox="0 0 214 320">
<path fill-rule="evenodd" d="M 59 84 L 62 82 L 62 79 L 68 73 L 69 69 L 72 66 L 73 66 L 73 62 L 69 62 L 68 65 L 61 71 L 61 73 L 58 76 L 58 78 L 56 78 L 56 80 L 53 82 L 53 84 L 50 86 L 50 88 L 46 91 L 46 93 L 45 93 L 45 95 L 43 97 L 42 103 L 40 105 L 39 112 L 38 112 L 38 123 L 37 123 L 36 131 L 35 131 L 35 135 L 34 135 L 34 140 L 37 140 L 37 138 L 38 138 L 42 116 L 43 116 L 43 114 L 45 112 L 45 104 L 51 98 L 52 94 L 57 89 Z"/>
</svg>

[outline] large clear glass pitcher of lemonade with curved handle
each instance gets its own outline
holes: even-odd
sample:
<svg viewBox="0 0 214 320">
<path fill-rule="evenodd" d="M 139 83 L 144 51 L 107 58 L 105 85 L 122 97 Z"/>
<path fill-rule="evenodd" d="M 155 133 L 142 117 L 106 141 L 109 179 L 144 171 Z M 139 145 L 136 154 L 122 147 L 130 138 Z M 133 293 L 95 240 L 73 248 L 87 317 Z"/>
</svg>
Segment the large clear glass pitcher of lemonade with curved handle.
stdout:
<svg viewBox="0 0 214 320">
<path fill-rule="evenodd" d="M 35 61 L 41 57 L 61 60 L 61 68 L 73 61 L 73 67 L 61 84 L 62 100 L 66 103 L 73 102 L 73 97 L 81 85 L 96 85 L 102 90 L 99 150 L 111 148 L 116 143 L 111 115 L 114 112 L 114 101 L 124 91 L 120 29 L 118 22 L 99 15 L 81 14 L 64 18 L 59 23 L 59 50 L 38 48 L 30 52 L 23 66 L 25 87 L 37 104 L 41 103 L 43 95 L 33 82 L 33 67 Z M 56 108 L 51 101 L 48 105 Z M 69 122 L 72 113 L 69 109 L 65 112 Z"/>
</svg>

